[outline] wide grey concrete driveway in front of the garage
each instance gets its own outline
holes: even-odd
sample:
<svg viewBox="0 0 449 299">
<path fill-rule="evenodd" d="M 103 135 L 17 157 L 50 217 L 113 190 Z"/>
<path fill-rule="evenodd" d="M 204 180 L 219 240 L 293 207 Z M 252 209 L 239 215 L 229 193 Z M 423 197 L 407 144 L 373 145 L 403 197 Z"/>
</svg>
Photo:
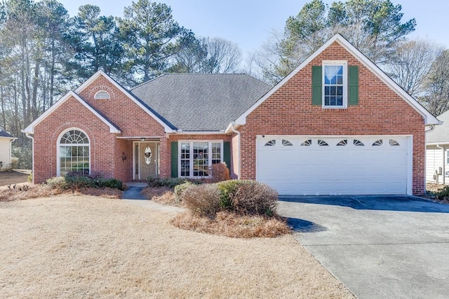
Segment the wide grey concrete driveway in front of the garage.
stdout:
<svg viewBox="0 0 449 299">
<path fill-rule="evenodd" d="M 449 297 L 447 204 L 407 196 L 284 196 L 279 213 L 357 298 Z"/>
</svg>

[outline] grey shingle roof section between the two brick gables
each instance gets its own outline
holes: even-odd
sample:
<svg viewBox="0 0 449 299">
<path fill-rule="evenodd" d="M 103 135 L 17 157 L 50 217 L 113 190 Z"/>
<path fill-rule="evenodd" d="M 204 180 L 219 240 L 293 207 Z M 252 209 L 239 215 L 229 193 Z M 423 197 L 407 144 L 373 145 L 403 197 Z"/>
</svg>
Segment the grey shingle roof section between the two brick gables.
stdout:
<svg viewBox="0 0 449 299">
<path fill-rule="evenodd" d="M 220 131 L 269 89 L 246 74 L 166 74 L 131 92 L 178 130 Z"/>
</svg>

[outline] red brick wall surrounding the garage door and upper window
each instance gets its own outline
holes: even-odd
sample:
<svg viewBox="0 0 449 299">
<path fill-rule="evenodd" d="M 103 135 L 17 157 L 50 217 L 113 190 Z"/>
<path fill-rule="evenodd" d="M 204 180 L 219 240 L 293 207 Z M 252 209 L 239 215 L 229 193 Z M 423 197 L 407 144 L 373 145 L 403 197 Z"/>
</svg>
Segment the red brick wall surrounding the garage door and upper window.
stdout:
<svg viewBox="0 0 449 299">
<path fill-rule="evenodd" d="M 358 105 L 311 105 L 311 67 L 322 60 L 358 66 Z M 255 179 L 255 137 L 262 134 L 413 135 L 413 194 L 424 193 L 424 119 L 337 42 L 323 51 L 246 118 L 241 131 L 241 179 Z"/>
</svg>

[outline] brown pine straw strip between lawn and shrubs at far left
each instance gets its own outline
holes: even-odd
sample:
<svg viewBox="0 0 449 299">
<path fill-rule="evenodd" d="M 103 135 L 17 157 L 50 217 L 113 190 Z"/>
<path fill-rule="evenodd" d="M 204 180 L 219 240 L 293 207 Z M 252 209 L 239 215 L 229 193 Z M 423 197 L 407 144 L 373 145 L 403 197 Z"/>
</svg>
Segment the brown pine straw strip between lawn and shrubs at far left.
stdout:
<svg viewBox="0 0 449 299">
<path fill-rule="evenodd" d="M 59 194 L 83 194 L 83 195 L 93 195 L 106 198 L 121 198 L 121 191 L 112 188 L 83 188 L 76 190 L 61 190 L 58 188 L 49 188 L 45 185 L 24 185 L 18 186 L 15 189 L 6 188 L 0 190 L 0 202 L 10 202 L 13 200 L 29 200 L 38 197 L 51 197 Z"/>
</svg>

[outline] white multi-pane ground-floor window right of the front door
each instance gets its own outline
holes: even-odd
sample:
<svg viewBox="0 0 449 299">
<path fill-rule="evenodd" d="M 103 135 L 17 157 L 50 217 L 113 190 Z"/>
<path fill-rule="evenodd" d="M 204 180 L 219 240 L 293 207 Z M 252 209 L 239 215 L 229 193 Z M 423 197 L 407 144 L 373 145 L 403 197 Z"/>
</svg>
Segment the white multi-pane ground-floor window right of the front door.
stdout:
<svg viewBox="0 0 449 299">
<path fill-rule="evenodd" d="M 222 152 L 221 141 L 181 141 L 180 176 L 209 176 L 209 166 L 222 162 Z"/>
</svg>

